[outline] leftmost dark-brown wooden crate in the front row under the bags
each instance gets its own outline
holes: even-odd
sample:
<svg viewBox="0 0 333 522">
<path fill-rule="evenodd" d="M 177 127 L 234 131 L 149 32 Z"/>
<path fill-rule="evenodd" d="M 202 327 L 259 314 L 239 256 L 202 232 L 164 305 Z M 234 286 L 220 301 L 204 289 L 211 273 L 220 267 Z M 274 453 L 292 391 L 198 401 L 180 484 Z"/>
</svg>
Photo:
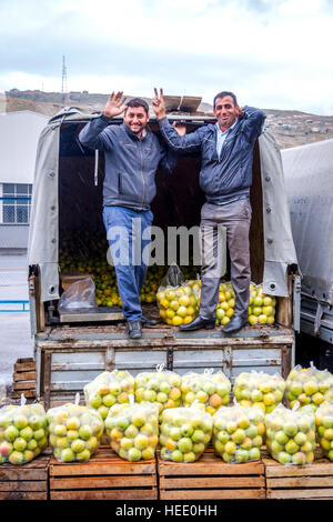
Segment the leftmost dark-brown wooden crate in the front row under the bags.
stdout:
<svg viewBox="0 0 333 522">
<path fill-rule="evenodd" d="M 1 464 L 0 500 L 48 500 L 50 458 L 46 450 L 28 464 Z"/>
</svg>

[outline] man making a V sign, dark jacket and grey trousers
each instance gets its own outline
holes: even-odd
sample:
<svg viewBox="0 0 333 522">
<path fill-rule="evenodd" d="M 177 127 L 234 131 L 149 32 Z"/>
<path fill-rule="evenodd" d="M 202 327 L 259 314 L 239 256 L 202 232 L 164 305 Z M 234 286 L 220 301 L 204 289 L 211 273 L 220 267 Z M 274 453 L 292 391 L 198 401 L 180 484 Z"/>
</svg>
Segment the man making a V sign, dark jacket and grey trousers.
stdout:
<svg viewBox="0 0 333 522">
<path fill-rule="evenodd" d="M 250 299 L 251 223 L 250 187 L 252 184 L 253 148 L 262 132 L 265 114 L 252 107 L 241 109 L 230 91 L 219 92 L 213 102 L 215 124 L 201 127 L 185 134 L 185 129 L 172 127 L 165 116 L 163 91 L 155 90 L 152 102 L 160 130 L 167 145 L 178 153 L 201 153 L 200 187 L 206 203 L 201 210 L 202 238 L 205 231 L 224 228 L 231 260 L 231 283 L 235 291 L 235 309 L 223 332 L 239 331 L 248 323 Z M 202 242 L 200 313 L 181 330 L 212 329 L 215 325 L 215 307 L 219 302 L 221 273 L 216 271 L 214 252 L 219 251 L 219 234 Z"/>
</svg>

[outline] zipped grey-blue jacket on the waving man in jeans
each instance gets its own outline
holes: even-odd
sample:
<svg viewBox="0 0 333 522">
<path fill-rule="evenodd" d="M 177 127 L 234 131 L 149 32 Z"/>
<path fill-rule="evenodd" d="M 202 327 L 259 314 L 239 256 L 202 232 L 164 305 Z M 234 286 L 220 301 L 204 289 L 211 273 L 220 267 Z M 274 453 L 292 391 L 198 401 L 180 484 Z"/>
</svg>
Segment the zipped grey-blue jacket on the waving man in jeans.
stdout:
<svg viewBox="0 0 333 522">
<path fill-rule="evenodd" d="M 104 152 L 103 204 L 149 210 L 157 193 L 158 168 L 171 173 L 176 155 L 153 132 L 147 130 L 140 140 L 125 123 L 110 126 L 110 121 L 101 114 L 79 134 L 83 145 Z"/>
</svg>

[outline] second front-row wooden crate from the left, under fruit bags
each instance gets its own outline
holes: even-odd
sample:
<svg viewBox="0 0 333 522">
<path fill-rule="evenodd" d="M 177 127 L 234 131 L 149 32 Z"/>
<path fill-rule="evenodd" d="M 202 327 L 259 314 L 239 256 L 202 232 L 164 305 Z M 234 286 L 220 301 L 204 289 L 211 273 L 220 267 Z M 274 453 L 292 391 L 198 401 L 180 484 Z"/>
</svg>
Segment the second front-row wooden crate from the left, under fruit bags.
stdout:
<svg viewBox="0 0 333 522">
<path fill-rule="evenodd" d="M 85 463 L 50 462 L 51 500 L 157 500 L 155 460 L 128 462 L 100 446 Z"/>
</svg>

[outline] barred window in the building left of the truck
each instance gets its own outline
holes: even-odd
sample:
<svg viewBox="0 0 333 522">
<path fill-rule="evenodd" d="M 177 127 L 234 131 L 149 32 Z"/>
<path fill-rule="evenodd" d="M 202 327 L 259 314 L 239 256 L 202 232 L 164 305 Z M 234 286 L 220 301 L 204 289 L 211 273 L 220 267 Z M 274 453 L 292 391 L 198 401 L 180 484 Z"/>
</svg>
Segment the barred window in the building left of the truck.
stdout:
<svg viewBox="0 0 333 522">
<path fill-rule="evenodd" d="M 28 224 L 30 220 L 32 184 L 2 184 L 2 223 Z"/>
</svg>

